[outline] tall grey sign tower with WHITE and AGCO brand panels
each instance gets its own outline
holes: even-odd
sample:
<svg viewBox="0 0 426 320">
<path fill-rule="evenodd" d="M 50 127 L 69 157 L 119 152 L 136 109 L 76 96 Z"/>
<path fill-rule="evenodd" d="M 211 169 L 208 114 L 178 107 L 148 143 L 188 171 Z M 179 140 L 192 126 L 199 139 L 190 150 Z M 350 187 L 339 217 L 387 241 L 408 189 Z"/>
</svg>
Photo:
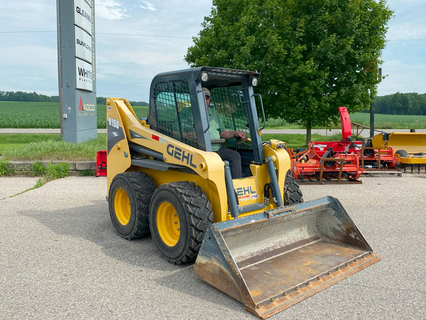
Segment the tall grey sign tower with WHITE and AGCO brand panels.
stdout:
<svg viewBox="0 0 426 320">
<path fill-rule="evenodd" d="M 56 0 L 61 137 L 97 137 L 94 0 Z"/>
</svg>

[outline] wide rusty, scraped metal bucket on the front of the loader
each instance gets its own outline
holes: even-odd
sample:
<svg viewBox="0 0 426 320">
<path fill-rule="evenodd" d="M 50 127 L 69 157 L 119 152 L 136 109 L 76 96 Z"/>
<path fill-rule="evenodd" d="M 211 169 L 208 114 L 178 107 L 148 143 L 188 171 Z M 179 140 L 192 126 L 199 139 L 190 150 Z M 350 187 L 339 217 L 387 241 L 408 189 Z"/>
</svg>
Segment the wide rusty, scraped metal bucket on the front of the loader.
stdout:
<svg viewBox="0 0 426 320">
<path fill-rule="evenodd" d="M 380 259 L 326 197 L 210 225 L 194 271 L 265 319 Z"/>
</svg>

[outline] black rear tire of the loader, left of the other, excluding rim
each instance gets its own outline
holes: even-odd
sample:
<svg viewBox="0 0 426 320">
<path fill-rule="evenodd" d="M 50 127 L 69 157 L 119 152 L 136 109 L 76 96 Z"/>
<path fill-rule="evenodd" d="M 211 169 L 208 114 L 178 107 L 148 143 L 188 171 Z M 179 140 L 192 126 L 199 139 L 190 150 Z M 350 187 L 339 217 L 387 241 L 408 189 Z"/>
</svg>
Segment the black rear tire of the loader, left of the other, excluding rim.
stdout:
<svg viewBox="0 0 426 320">
<path fill-rule="evenodd" d="M 130 201 L 130 219 L 121 224 L 116 215 L 114 198 L 116 191 L 125 191 Z M 124 172 L 117 174 L 111 182 L 108 196 L 110 217 L 117 233 L 127 239 L 137 239 L 150 234 L 150 202 L 155 190 L 155 183 L 145 172 Z"/>
</svg>

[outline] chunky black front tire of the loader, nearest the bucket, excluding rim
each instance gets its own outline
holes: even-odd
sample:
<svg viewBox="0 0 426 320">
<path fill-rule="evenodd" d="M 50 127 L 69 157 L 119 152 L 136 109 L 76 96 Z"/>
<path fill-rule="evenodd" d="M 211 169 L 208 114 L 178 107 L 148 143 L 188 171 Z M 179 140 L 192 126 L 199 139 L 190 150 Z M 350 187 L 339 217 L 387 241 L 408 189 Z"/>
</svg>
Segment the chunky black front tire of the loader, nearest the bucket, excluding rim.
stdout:
<svg viewBox="0 0 426 320">
<path fill-rule="evenodd" d="M 180 233 L 173 246 L 165 244 L 158 232 L 157 209 L 162 202 L 173 205 L 178 214 Z M 194 182 L 166 183 L 155 190 L 150 206 L 151 235 L 158 251 L 167 261 L 173 264 L 194 261 L 204 234 L 213 222 L 210 201 Z"/>
</svg>

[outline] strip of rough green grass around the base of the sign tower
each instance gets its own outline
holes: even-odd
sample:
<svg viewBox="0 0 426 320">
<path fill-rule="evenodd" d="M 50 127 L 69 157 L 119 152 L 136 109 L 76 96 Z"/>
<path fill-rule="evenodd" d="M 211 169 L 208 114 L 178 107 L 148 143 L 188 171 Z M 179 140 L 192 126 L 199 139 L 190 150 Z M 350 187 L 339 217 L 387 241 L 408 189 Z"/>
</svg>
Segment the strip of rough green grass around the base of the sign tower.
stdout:
<svg viewBox="0 0 426 320">
<path fill-rule="evenodd" d="M 60 134 L 39 134 L 27 135 L 17 134 L 14 139 L 20 141 L 21 137 L 28 137 L 26 144 L 7 144 L 2 148 L 0 144 L 0 155 L 5 160 L 95 160 L 96 152 L 107 149 L 106 134 L 98 134 L 96 139 L 89 140 L 84 143 L 71 143 L 61 140 Z M 0 134 L 0 141 L 9 136 L 8 134 Z M 36 137 L 31 141 L 32 136 L 45 136 L 44 139 Z"/>
</svg>

